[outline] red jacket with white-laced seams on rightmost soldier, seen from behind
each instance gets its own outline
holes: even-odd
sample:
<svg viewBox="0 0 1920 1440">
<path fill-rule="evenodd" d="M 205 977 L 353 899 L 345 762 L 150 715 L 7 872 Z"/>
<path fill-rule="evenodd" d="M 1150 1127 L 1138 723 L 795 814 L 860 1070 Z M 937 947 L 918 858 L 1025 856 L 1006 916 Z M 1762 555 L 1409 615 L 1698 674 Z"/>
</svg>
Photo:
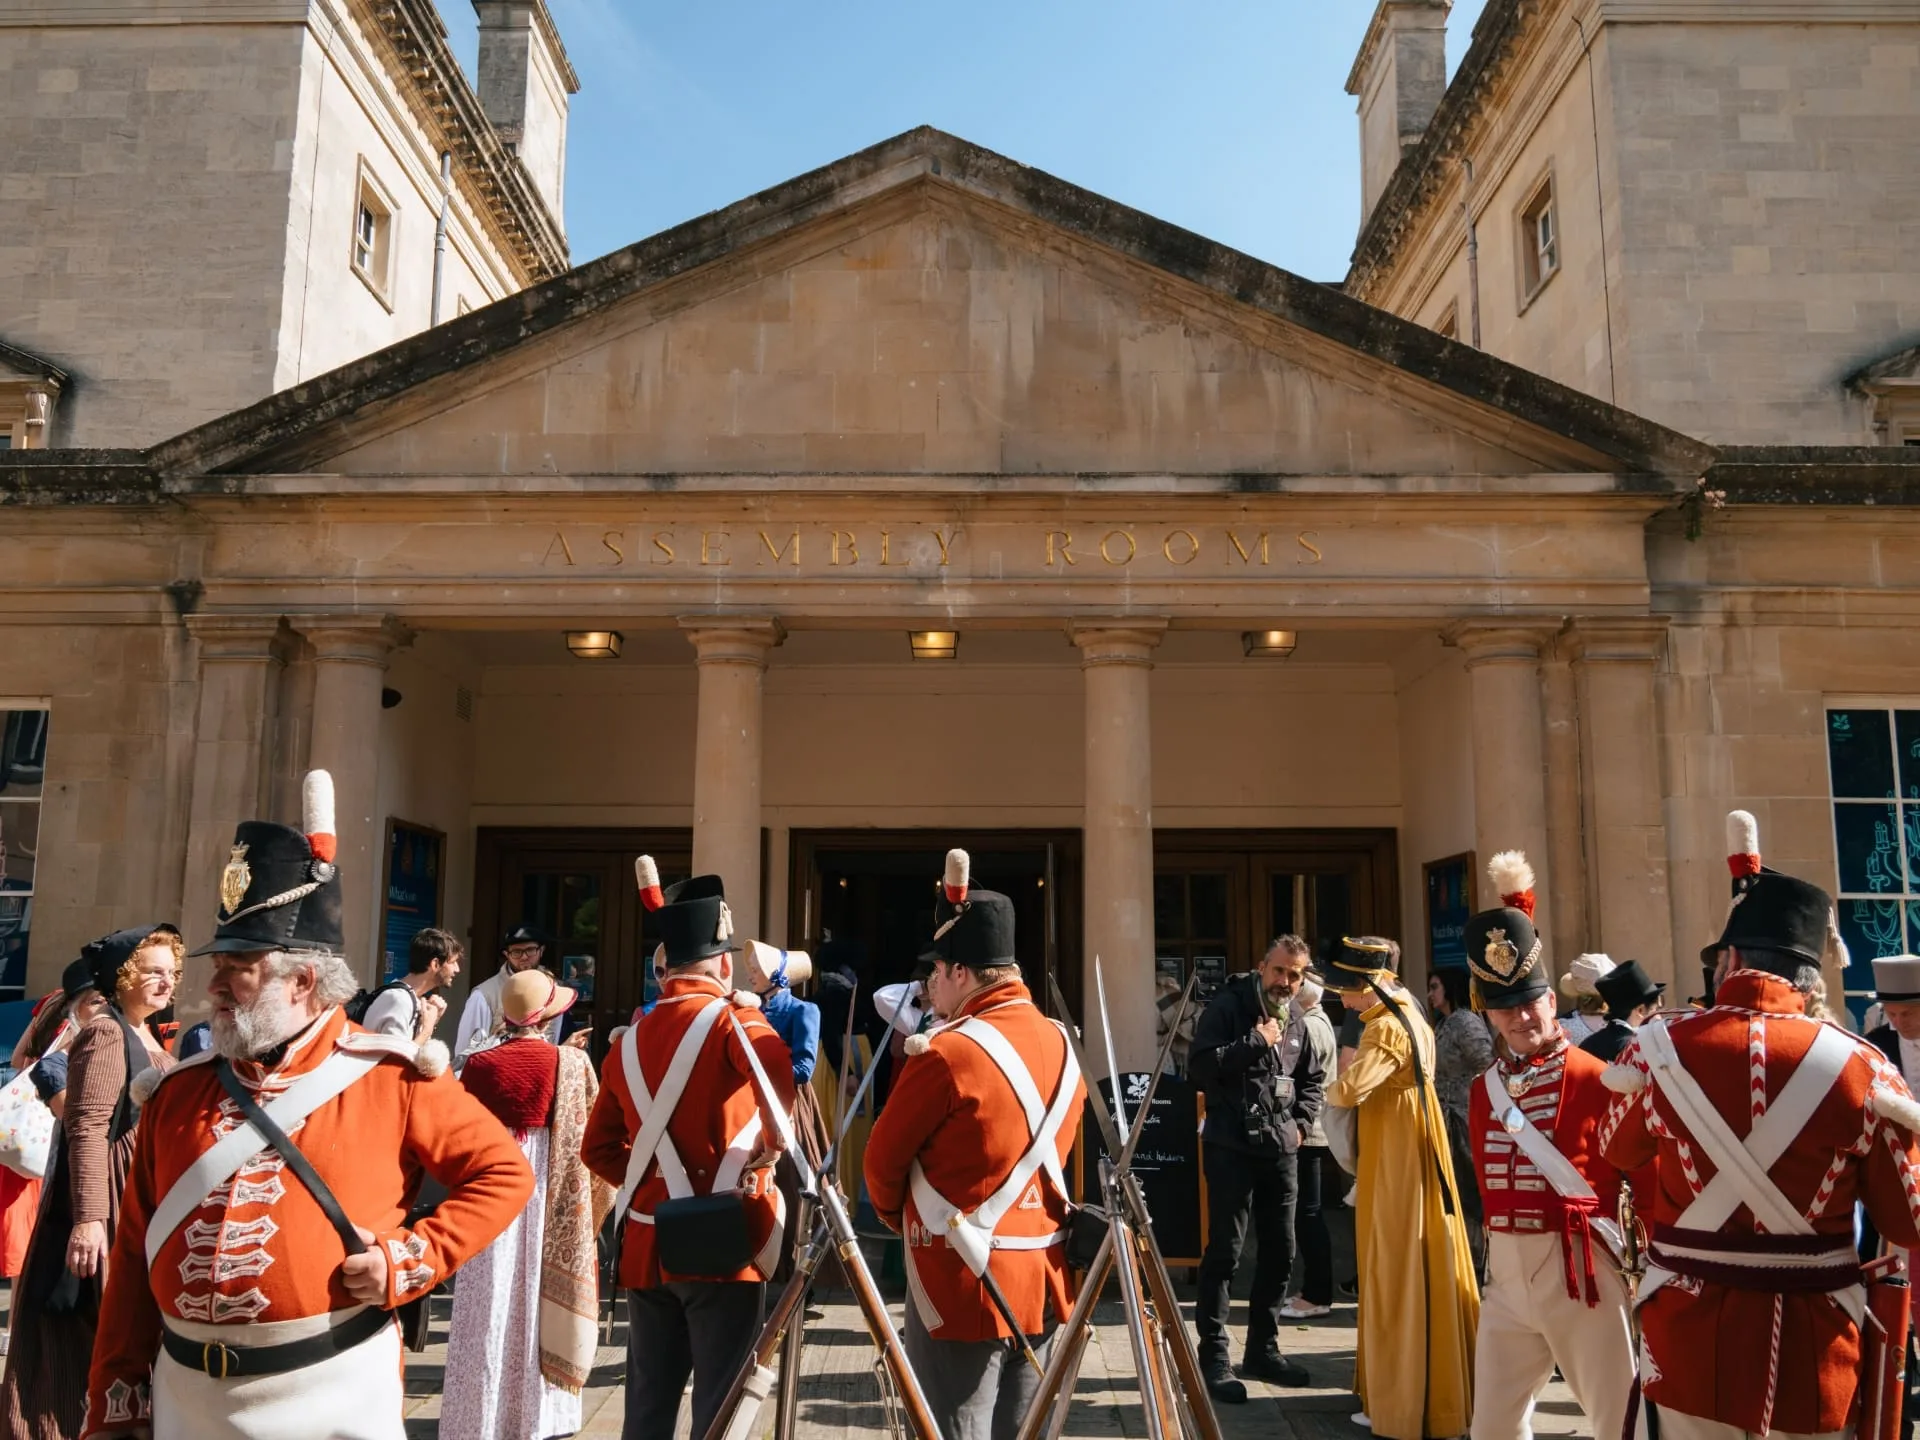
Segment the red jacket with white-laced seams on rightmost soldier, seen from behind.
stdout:
<svg viewBox="0 0 1920 1440">
<path fill-rule="evenodd" d="M 1805 996 L 1788 981 L 1757 970 L 1736 970 L 1715 998 L 1711 1010 L 1668 1020 L 1668 1035 L 1688 1075 L 1745 1139 L 1822 1025 L 1807 1018 Z M 1853 1056 L 1768 1175 L 1818 1235 L 1851 1242 L 1853 1204 L 1860 1200 L 1887 1240 L 1912 1246 L 1920 1242 L 1920 1148 L 1910 1131 L 1868 1104 L 1872 1089 L 1907 1096 L 1907 1085 L 1880 1050 L 1847 1039 Z M 1642 1087 L 1615 1096 L 1601 1144 L 1620 1167 L 1657 1162 L 1651 1223 L 1659 1238 L 1657 1227 L 1680 1219 L 1715 1165 L 1647 1083 L 1638 1041 L 1619 1066 L 1638 1071 Z M 1630 1083 L 1634 1075 L 1617 1081 Z M 1718 1233 L 1753 1236 L 1761 1227 L 1741 1206 Z M 1824 1294 L 1776 1302 L 1759 1290 L 1676 1277 L 1642 1306 L 1642 1382 L 1657 1405 L 1753 1432 L 1818 1434 L 1853 1421 L 1860 1336 Z"/>
</svg>

